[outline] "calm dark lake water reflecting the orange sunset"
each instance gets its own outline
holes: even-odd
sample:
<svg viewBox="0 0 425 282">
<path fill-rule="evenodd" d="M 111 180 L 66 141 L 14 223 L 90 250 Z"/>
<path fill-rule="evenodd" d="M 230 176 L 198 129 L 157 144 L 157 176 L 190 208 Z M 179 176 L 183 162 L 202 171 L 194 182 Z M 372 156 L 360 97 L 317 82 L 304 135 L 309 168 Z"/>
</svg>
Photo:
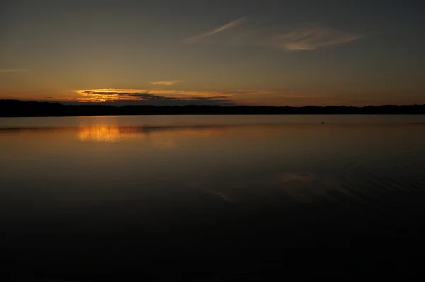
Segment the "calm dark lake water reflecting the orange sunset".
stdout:
<svg viewBox="0 0 425 282">
<path fill-rule="evenodd" d="M 14 277 L 407 275 L 424 227 L 425 116 L 0 119 Z"/>
</svg>

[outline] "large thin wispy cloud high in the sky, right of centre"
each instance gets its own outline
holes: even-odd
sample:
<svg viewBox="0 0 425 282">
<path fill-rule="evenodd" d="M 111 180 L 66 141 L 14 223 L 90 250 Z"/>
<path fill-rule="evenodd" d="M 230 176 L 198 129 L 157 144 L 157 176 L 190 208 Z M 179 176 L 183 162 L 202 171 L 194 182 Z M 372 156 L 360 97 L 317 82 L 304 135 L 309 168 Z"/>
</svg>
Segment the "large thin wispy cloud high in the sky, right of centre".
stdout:
<svg viewBox="0 0 425 282">
<path fill-rule="evenodd" d="M 229 30 L 230 28 L 232 30 Z M 220 33 L 223 30 L 229 30 L 229 32 Z M 205 37 L 216 33 L 220 33 L 220 35 L 214 37 L 214 40 L 212 38 L 203 40 Z M 185 42 L 208 41 L 209 43 L 220 42 L 227 45 L 251 45 L 300 51 L 342 45 L 359 38 L 361 38 L 360 35 L 319 25 L 298 25 L 295 27 L 263 25 L 261 23 L 249 23 L 245 18 L 241 18 L 207 33 L 189 37 Z"/>
</svg>

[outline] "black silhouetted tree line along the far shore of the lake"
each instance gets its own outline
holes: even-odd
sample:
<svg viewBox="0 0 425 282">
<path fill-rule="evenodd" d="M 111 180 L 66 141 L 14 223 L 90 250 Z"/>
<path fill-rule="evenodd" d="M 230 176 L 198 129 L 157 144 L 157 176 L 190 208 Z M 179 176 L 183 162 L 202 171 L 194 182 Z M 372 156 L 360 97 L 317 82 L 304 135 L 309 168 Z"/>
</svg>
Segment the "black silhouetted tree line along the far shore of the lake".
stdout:
<svg viewBox="0 0 425 282">
<path fill-rule="evenodd" d="M 60 117 L 139 114 L 425 114 L 425 105 L 382 106 L 111 106 L 0 100 L 0 117 Z"/>
</svg>

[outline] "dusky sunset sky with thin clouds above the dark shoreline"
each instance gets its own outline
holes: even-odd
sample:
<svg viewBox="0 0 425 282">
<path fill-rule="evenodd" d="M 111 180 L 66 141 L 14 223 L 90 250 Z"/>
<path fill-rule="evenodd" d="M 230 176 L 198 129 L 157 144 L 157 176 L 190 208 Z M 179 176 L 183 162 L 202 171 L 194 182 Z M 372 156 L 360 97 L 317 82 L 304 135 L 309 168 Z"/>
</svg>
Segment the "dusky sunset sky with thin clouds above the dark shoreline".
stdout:
<svg viewBox="0 0 425 282">
<path fill-rule="evenodd" d="M 425 104 L 422 0 L 3 0 L 0 99 Z"/>
</svg>

